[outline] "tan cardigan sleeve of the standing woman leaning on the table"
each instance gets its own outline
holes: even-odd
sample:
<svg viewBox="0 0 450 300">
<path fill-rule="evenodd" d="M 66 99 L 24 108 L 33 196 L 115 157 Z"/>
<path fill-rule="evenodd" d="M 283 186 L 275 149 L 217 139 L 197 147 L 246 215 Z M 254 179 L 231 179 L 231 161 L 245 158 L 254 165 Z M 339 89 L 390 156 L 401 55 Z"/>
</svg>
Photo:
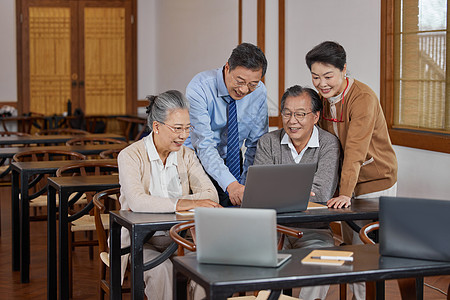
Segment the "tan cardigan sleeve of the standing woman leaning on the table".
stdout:
<svg viewBox="0 0 450 300">
<path fill-rule="evenodd" d="M 347 138 L 342 163 L 340 195 L 351 197 L 358 182 L 359 172 L 366 159 L 375 128 L 378 99 L 368 93 L 362 93 L 349 102 Z"/>
</svg>

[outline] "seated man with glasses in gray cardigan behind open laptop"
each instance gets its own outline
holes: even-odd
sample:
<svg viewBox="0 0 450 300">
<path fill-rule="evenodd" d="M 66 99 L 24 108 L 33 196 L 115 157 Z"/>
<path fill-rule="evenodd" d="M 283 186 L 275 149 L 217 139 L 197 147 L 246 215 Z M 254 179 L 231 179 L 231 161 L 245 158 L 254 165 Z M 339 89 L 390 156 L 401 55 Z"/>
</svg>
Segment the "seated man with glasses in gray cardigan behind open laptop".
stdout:
<svg viewBox="0 0 450 300">
<path fill-rule="evenodd" d="M 333 196 L 339 179 L 339 141 L 334 135 L 316 126 L 321 110 L 322 101 L 314 90 L 298 85 L 288 88 L 281 98 L 283 128 L 260 138 L 255 165 L 317 164 L 310 201 L 326 205 Z M 299 230 L 303 231 L 303 237 L 288 237 L 285 239 L 285 249 L 334 246 L 328 223 L 308 223 L 302 226 Z M 328 288 L 329 286 L 304 287 L 300 298 L 325 299 Z"/>
</svg>

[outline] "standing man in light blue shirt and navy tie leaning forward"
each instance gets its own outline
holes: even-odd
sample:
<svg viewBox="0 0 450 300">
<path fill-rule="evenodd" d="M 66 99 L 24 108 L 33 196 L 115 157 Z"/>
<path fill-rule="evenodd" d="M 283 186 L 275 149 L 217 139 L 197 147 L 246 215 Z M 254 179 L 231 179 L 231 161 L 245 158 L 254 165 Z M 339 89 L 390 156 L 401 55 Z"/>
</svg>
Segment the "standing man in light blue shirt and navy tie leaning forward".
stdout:
<svg viewBox="0 0 450 300">
<path fill-rule="evenodd" d="M 258 139 L 268 131 L 267 90 L 261 82 L 266 70 L 261 49 L 242 43 L 224 67 L 195 75 L 186 88 L 194 131 L 185 144 L 196 150 L 222 206 L 241 203 Z"/>
</svg>

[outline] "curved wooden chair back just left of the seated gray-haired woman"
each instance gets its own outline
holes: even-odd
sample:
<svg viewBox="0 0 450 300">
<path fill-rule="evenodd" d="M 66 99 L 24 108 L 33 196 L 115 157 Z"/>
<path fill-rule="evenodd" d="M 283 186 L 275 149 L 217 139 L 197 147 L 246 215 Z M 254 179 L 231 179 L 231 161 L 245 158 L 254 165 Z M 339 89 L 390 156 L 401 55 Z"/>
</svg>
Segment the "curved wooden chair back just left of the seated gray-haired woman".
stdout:
<svg viewBox="0 0 450 300">
<path fill-rule="evenodd" d="M 114 188 L 99 192 L 94 195 L 94 219 L 95 229 L 97 231 L 99 252 L 109 252 L 108 232 L 102 222 L 101 214 L 108 214 L 111 210 L 120 209 L 120 188 Z"/>
</svg>

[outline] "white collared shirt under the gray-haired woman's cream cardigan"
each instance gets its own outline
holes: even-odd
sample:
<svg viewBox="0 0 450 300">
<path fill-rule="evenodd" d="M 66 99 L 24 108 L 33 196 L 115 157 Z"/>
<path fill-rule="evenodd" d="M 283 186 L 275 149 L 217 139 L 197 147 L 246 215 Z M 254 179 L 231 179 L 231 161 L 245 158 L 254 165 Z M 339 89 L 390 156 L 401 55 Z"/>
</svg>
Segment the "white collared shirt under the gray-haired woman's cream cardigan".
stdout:
<svg viewBox="0 0 450 300">
<path fill-rule="evenodd" d="M 163 164 L 156 151 L 153 142 L 153 132 L 144 138 L 145 148 L 151 165 L 150 185 L 148 191 L 150 195 L 164 198 L 179 198 L 182 196 L 181 180 L 178 175 L 177 152 L 170 152 L 166 159 L 166 165 Z M 174 210 L 176 210 L 175 202 Z M 165 231 L 157 231 L 154 236 L 167 235 Z"/>
</svg>

